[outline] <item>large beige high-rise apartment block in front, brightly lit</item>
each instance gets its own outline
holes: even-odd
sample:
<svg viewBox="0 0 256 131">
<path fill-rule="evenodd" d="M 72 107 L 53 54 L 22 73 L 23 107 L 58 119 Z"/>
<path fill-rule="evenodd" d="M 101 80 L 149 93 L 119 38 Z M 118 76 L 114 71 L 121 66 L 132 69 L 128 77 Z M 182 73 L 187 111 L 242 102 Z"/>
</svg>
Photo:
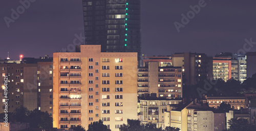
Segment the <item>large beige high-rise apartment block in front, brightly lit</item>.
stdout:
<svg viewBox="0 0 256 131">
<path fill-rule="evenodd" d="M 53 61 L 53 127 L 88 128 L 101 119 L 119 130 L 137 119 L 137 53 L 80 45 L 76 52 L 53 53 Z"/>
</svg>

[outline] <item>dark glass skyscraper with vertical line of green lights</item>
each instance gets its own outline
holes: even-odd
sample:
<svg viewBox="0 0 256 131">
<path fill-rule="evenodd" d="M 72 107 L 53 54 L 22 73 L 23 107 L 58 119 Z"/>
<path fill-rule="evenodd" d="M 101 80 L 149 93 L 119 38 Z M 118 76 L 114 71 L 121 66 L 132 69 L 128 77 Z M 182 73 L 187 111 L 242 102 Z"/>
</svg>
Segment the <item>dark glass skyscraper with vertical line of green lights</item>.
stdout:
<svg viewBox="0 0 256 131">
<path fill-rule="evenodd" d="M 86 45 L 141 55 L 140 0 L 83 0 Z"/>
</svg>

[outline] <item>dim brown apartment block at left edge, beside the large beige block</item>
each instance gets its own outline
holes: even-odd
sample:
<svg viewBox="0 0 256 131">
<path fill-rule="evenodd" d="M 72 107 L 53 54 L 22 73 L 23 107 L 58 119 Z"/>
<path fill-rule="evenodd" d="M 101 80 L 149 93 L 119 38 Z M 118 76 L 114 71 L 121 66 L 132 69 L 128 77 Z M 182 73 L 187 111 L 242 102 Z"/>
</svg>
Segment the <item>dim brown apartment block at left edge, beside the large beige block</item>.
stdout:
<svg viewBox="0 0 256 131">
<path fill-rule="evenodd" d="M 16 107 L 27 107 L 28 110 L 38 108 L 42 112 L 52 115 L 52 59 L 34 59 L 34 61 L 5 60 L 0 63 L 0 80 L 8 77 L 8 94 L 5 100 L 4 90 L 0 96 L 8 101 L 8 112 L 13 112 Z M 39 62 L 44 61 L 44 62 Z M 48 62 L 47 62 L 48 61 Z M 4 83 L 2 83 L 2 88 Z M 0 103 L 0 112 L 4 112 L 4 103 Z"/>
</svg>

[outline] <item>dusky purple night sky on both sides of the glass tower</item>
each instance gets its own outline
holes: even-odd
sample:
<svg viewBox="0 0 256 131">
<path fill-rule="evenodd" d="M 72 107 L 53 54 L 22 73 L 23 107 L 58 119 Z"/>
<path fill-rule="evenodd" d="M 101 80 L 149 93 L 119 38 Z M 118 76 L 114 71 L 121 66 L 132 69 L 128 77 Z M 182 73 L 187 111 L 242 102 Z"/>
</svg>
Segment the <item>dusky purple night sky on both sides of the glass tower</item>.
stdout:
<svg viewBox="0 0 256 131">
<path fill-rule="evenodd" d="M 25 1 L 25 0 L 22 0 Z M 31 0 L 32 1 L 32 0 Z M 33 0 L 35 1 L 35 0 Z M 256 41 L 256 1 L 205 1 L 178 33 L 174 22 L 199 1 L 141 0 L 142 53 L 147 56 L 197 52 L 237 53 L 244 39 Z M 0 1 L 0 57 L 39 57 L 61 51 L 84 34 L 82 0 L 37 0 L 7 27 L 19 1 Z M 84 42 L 84 41 L 83 41 Z M 256 45 L 249 51 L 256 51 Z"/>
</svg>

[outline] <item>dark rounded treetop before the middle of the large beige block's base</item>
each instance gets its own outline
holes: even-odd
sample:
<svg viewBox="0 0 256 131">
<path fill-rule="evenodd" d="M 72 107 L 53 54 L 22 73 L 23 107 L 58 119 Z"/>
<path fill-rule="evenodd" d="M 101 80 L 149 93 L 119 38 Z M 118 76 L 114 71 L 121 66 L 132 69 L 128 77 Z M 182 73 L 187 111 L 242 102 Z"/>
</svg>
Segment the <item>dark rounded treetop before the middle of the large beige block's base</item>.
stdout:
<svg viewBox="0 0 256 131">
<path fill-rule="evenodd" d="M 99 120 L 98 122 L 91 122 L 91 124 L 88 125 L 87 131 L 111 131 L 111 129 L 104 125 L 102 120 Z"/>
</svg>

